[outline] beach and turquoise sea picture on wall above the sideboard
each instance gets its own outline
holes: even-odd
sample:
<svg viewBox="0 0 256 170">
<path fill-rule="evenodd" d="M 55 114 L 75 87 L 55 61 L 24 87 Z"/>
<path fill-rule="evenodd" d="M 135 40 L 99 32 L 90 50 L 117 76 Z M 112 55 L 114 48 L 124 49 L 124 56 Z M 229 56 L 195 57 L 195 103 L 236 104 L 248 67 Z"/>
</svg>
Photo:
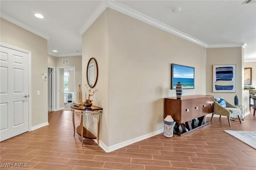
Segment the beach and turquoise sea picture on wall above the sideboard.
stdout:
<svg viewBox="0 0 256 170">
<path fill-rule="evenodd" d="M 178 82 L 182 89 L 194 89 L 195 68 L 172 63 L 172 89 L 176 89 Z"/>
</svg>

